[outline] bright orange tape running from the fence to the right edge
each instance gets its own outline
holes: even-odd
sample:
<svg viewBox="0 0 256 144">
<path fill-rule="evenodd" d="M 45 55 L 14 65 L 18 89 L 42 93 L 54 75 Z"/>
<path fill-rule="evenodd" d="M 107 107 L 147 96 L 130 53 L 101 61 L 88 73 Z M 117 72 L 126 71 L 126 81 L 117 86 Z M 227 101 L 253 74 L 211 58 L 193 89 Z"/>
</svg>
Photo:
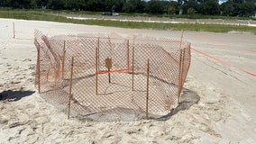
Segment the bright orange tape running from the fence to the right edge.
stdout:
<svg viewBox="0 0 256 144">
<path fill-rule="evenodd" d="M 222 59 L 215 58 L 215 57 L 213 57 L 213 56 L 207 54 L 206 52 L 203 52 L 203 51 L 201 51 L 201 50 L 198 50 L 198 49 L 195 49 L 195 48 L 192 48 L 192 47 L 191 47 L 191 49 L 194 50 L 194 51 L 196 51 L 197 53 L 200 53 L 200 54 L 202 54 L 202 55 L 208 57 L 208 58 L 212 58 L 212 59 L 214 59 L 215 61 L 218 61 L 219 63 L 222 63 L 222 64 L 224 64 L 224 65 L 226 65 L 226 66 L 234 67 L 232 64 L 230 64 L 230 63 L 228 63 L 228 62 L 226 62 L 226 61 L 224 61 L 224 60 L 222 60 Z M 242 69 L 242 68 L 240 68 L 240 67 L 234 67 L 234 68 L 236 68 L 236 69 L 238 69 L 239 71 L 242 71 L 242 72 L 244 72 L 244 73 L 246 73 L 246 74 L 249 74 L 249 75 L 251 75 L 251 76 L 255 76 L 255 77 L 256 77 L 256 74 L 251 73 L 251 72 L 248 72 L 248 71 L 246 71 L 246 70 L 244 70 L 244 69 Z"/>
</svg>

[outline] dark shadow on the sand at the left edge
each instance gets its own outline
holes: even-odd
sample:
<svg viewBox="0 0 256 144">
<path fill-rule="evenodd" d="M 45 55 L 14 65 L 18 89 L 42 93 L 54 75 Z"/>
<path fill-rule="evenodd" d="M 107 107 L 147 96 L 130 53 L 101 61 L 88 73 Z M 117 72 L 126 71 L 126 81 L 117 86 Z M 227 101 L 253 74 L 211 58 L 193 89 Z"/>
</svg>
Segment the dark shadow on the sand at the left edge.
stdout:
<svg viewBox="0 0 256 144">
<path fill-rule="evenodd" d="M 19 101 L 23 97 L 33 94 L 35 91 L 13 91 L 8 90 L 0 93 L 0 101 Z"/>
</svg>

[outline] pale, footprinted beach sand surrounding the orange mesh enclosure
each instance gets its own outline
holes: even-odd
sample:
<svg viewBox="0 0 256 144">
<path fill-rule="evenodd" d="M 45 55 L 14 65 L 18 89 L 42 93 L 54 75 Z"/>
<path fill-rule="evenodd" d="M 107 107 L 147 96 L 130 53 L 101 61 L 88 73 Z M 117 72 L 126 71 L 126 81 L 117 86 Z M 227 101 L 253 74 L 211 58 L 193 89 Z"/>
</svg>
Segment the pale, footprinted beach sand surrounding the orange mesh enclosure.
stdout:
<svg viewBox="0 0 256 144">
<path fill-rule="evenodd" d="M 115 32 L 123 37 L 179 39 L 181 35 L 181 31 L 0 19 L 0 143 L 256 143 L 256 35 L 185 31 L 183 40 L 192 43 L 192 61 L 176 109 L 159 120 L 87 121 L 68 120 L 67 113 L 36 92 L 34 29 L 49 36 Z"/>
</svg>

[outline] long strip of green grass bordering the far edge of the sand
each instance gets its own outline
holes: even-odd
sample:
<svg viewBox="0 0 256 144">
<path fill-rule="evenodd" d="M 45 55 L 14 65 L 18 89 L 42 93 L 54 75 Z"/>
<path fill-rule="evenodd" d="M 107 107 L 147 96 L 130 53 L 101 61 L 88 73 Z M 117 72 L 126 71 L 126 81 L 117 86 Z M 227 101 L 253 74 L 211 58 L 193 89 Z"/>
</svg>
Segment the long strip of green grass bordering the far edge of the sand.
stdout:
<svg viewBox="0 0 256 144">
<path fill-rule="evenodd" d="M 61 12 L 63 13 L 63 12 Z M 68 19 L 59 14 L 44 11 L 0 11 L 1 18 L 14 18 L 23 20 L 50 21 L 59 23 L 78 23 L 87 25 L 100 25 L 132 29 L 155 29 L 155 30 L 175 30 L 175 31 L 213 31 L 213 32 L 228 32 L 228 31 L 246 31 L 256 34 L 256 27 L 235 26 L 235 25 L 220 25 L 220 24 L 191 24 L 191 23 L 136 23 L 136 22 L 114 22 L 104 20 L 75 20 Z"/>
</svg>

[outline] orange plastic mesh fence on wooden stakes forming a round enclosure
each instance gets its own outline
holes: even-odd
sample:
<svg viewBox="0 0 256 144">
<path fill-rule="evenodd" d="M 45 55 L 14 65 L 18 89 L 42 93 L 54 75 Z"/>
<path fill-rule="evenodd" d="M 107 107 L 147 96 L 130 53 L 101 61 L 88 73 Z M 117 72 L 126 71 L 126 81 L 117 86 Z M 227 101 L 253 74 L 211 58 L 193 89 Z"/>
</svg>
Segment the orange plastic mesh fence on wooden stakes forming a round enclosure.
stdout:
<svg viewBox="0 0 256 144">
<path fill-rule="evenodd" d="M 34 44 L 41 97 L 63 110 L 70 98 L 74 116 L 145 115 L 147 94 L 149 114 L 163 116 L 178 103 L 190 66 L 190 43 L 180 40 L 35 31 Z"/>
</svg>

